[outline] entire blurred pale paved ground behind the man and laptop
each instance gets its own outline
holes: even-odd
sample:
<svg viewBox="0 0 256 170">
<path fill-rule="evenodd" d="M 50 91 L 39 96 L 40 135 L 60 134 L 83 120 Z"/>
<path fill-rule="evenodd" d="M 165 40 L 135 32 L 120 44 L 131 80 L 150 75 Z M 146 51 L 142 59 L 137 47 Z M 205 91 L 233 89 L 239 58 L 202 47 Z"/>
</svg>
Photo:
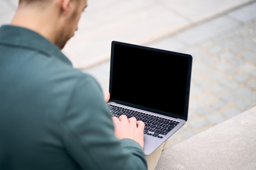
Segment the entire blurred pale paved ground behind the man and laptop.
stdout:
<svg viewBox="0 0 256 170">
<path fill-rule="evenodd" d="M 17 6 L 0 0 L 0 24 Z M 113 40 L 193 56 L 189 119 L 171 144 L 256 106 L 256 0 L 88 0 L 63 53 L 103 93 Z"/>
</svg>

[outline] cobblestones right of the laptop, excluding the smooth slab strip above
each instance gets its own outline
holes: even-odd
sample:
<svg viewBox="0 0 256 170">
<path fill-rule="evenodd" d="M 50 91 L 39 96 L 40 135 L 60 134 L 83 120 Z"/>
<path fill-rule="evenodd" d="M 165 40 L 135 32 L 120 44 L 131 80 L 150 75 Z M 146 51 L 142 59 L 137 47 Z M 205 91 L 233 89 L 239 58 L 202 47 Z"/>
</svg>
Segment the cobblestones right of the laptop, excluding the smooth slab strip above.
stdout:
<svg viewBox="0 0 256 170">
<path fill-rule="evenodd" d="M 256 106 L 256 20 L 181 52 L 193 56 L 189 119 L 171 143 Z"/>
</svg>

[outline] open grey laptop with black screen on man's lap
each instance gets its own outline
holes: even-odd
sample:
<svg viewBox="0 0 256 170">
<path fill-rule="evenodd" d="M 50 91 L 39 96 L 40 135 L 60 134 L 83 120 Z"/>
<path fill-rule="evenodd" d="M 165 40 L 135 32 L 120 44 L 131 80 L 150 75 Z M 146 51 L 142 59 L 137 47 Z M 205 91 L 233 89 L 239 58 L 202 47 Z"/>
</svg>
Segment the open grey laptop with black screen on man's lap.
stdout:
<svg viewBox="0 0 256 170">
<path fill-rule="evenodd" d="M 150 155 L 188 119 L 192 56 L 112 42 L 111 116 L 144 121 L 144 153 Z"/>
</svg>

